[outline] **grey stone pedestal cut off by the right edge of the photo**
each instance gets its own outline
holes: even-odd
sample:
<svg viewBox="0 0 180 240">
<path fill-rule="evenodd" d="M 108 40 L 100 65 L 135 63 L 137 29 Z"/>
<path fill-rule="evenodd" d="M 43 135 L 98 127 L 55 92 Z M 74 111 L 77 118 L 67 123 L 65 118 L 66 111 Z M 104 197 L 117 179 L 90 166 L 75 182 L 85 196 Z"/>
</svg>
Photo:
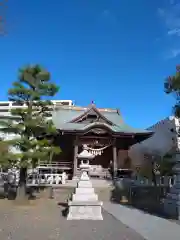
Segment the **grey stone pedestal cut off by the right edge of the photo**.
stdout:
<svg viewBox="0 0 180 240">
<path fill-rule="evenodd" d="M 176 182 L 164 199 L 164 212 L 169 217 L 180 220 L 180 152 L 176 153 L 175 161 Z"/>
</svg>

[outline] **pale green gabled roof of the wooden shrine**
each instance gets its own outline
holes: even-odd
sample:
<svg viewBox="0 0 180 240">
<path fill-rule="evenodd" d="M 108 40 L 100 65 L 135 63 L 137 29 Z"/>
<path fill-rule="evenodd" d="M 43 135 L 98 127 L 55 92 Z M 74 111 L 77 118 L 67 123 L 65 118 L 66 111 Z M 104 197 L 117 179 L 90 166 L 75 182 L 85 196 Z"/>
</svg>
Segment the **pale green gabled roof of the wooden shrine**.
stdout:
<svg viewBox="0 0 180 240">
<path fill-rule="evenodd" d="M 109 121 L 111 124 L 108 124 L 108 122 L 92 122 L 92 123 L 77 123 L 73 122 L 73 119 L 77 119 L 83 114 L 85 114 L 87 111 L 89 111 L 91 108 L 95 108 L 96 111 L 98 111 L 101 116 L 103 116 L 107 121 Z M 76 107 L 76 106 L 63 106 L 59 107 L 53 112 L 53 122 L 55 124 L 55 127 L 61 131 L 85 131 L 86 129 L 92 128 L 92 127 L 99 127 L 104 126 L 109 128 L 114 133 L 134 133 L 134 134 L 147 134 L 150 135 L 152 132 L 143 130 L 143 129 L 137 129 L 133 128 L 131 126 L 128 126 L 122 118 L 122 115 L 120 114 L 119 110 L 117 109 L 107 109 L 107 108 L 96 108 L 94 105 L 83 108 L 83 107 Z"/>
</svg>

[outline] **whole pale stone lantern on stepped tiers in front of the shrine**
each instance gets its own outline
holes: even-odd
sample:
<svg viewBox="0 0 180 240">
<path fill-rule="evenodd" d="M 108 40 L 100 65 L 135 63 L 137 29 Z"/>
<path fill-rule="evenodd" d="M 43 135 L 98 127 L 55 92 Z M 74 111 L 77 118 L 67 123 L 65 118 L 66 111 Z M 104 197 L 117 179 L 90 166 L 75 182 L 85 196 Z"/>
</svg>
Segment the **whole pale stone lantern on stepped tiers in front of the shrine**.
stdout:
<svg viewBox="0 0 180 240">
<path fill-rule="evenodd" d="M 81 177 L 75 193 L 72 194 L 71 201 L 68 202 L 67 220 L 103 220 L 102 202 L 98 201 L 98 196 L 95 194 L 88 176 L 89 159 L 94 158 L 94 156 L 85 149 L 78 156 L 82 158 L 79 166 Z M 86 162 L 83 160 L 86 160 Z"/>
</svg>

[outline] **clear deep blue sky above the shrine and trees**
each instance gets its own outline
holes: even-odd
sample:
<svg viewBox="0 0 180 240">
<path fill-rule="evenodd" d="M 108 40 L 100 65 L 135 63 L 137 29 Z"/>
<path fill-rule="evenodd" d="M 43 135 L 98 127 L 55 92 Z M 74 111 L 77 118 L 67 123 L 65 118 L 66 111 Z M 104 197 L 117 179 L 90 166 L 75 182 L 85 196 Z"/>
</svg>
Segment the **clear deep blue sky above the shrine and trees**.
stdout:
<svg viewBox="0 0 180 240">
<path fill-rule="evenodd" d="M 171 114 L 163 92 L 180 60 L 180 1 L 14 0 L 0 13 L 0 99 L 17 70 L 40 63 L 60 85 L 56 99 L 119 108 L 148 127 Z"/>
</svg>

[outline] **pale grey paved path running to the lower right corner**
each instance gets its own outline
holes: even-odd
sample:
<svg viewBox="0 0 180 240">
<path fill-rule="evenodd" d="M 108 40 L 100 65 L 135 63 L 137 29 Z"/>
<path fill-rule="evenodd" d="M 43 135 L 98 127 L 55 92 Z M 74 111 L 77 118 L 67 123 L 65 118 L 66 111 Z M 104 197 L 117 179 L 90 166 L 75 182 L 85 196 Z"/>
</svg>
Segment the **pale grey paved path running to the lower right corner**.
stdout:
<svg viewBox="0 0 180 240">
<path fill-rule="evenodd" d="M 105 202 L 104 209 L 147 240 L 179 240 L 180 226 L 120 204 Z"/>
</svg>

